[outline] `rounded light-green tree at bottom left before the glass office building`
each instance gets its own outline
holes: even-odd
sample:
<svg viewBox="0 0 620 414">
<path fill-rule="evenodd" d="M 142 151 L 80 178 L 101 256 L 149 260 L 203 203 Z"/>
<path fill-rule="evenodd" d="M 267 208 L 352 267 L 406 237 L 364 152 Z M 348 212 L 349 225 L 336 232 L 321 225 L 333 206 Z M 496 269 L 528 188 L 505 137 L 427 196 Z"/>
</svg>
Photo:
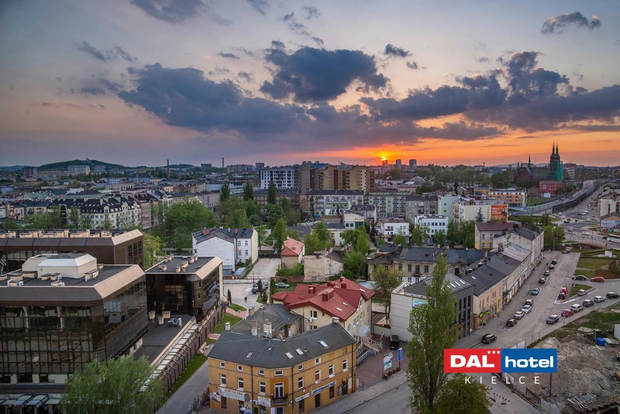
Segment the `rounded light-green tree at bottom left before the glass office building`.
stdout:
<svg viewBox="0 0 620 414">
<path fill-rule="evenodd" d="M 164 398 L 162 382 L 148 381 L 153 369 L 144 356 L 92 359 L 69 377 L 60 402 L 63 412 L 150 414 Z"/>
</svg>

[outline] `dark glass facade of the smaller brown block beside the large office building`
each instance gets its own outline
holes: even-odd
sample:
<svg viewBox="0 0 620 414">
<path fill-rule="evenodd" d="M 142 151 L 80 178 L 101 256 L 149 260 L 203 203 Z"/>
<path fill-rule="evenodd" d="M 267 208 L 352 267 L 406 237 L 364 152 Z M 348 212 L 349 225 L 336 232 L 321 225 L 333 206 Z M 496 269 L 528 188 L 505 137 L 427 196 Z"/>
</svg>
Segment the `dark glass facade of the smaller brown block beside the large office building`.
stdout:
<svg viewBox="0 0 620 414">
<path fill-rule="evenodd" d="M 192 273 L 148 273 L 148 310 L 206 314 L 219 299 L 219 267 L 201 281 L 187 280 L 189 276 Z"/>
</svg>

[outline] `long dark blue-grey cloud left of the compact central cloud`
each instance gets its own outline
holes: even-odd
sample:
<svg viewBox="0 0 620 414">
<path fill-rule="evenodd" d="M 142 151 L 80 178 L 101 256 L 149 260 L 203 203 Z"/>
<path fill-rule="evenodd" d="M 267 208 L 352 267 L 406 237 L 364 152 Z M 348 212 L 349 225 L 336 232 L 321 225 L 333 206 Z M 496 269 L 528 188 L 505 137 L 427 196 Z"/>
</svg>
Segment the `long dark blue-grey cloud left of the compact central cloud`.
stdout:
<svg viewBox="0 0 620 414">
<path fill-rule="evenodd" d="M 168 69 L 156 63 L 139 69 L 137 75 L 136 89 L 122 90 L 118 97 L 168 125 L 199 131 L 277 133 L 305 116 L 293 105 L 244 97 L 232 82 L 211 81 L 198 69 Z"/>
</svg>

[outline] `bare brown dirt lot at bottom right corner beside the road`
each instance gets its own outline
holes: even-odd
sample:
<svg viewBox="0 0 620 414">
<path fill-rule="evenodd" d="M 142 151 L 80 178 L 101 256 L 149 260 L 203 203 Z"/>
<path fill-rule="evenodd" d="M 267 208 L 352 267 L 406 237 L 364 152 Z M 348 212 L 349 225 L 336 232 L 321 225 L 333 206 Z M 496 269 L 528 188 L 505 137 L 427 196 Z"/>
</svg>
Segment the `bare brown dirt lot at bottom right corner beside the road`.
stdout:
<svg viewBox="0 0 620 414">
<path fill-rule="evenodd" d="M 620 382 L 613 379 L 614 372 L 620 372 L 616 362 L 620 347 L 596 346 L 583 335 L 573 334 L 560 340 L 547 338 L 536 348 L 557 348 L 557 374 L 553 374 L 551 389 L 560 407 L 571 408 L 567 399 L 573 397 L 596 405 L 620 395 Z M 533 384 L 532 378 L 529 389 L 548 394 L 549 374 L 538 375 L 540 384 Z"/>
</svg>

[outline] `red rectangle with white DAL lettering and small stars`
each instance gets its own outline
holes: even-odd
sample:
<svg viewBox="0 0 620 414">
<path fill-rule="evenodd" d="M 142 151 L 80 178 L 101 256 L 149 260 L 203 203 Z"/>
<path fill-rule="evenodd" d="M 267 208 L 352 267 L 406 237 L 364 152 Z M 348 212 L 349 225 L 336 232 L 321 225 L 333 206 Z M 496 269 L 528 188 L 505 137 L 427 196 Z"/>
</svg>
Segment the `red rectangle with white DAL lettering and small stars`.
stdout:
<svg viewBox="0 0 620 414">
<path fill-rule="evenodd" d="M 493 349 L 445 349 L 443 372 L 501 372 L 502 351 Z"/>
</svg>

